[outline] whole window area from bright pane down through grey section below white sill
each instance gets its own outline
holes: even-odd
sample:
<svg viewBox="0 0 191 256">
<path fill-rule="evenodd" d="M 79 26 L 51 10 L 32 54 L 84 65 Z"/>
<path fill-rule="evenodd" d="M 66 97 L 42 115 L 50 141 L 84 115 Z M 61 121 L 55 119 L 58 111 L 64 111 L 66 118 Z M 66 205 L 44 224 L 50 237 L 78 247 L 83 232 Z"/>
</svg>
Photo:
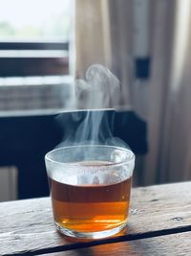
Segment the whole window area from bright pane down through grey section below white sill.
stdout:
<svg viewBox="0 0 191 256">
<path fill-rule="evenodd" d="M 65 107 L 72 4 L 0 0 L 0 114 Z"/>
</svg>

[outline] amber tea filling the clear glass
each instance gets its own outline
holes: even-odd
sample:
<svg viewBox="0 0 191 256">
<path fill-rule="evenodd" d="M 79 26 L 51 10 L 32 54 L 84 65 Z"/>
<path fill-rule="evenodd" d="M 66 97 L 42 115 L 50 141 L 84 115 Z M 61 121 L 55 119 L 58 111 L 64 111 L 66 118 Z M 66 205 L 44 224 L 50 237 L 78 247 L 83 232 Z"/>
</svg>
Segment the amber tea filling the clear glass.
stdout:
<svg viewBox="0 0 191 256">
<path fill-rule="evenodd" d="M 112 179 L 111 175 L 107 177 Z M 54 221 L 63 228 L 96 232 L 115 228 L 127 220 L 131 178 L 105 185 L 70 185 L 50 178 L 50 188 Z"/>
</svg>

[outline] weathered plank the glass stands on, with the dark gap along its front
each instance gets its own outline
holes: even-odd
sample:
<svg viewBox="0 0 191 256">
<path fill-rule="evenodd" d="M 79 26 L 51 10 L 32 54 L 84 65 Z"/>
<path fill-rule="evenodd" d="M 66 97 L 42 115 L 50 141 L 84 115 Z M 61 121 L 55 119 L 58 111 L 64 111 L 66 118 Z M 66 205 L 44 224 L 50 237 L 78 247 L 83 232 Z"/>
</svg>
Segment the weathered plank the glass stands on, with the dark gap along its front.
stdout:
<svg viewBox="0 0 191 256">
<path fill-rule="evenodd" d="M 191 182 L 133 189 L 126 230 L 115 237 L 83 243 L 56 232 L 50 198 L 0 203 L 0 255 L 38 255 L 99 244 L 112 246 L 186 231 L 191 234 Z"/>
</svg>

